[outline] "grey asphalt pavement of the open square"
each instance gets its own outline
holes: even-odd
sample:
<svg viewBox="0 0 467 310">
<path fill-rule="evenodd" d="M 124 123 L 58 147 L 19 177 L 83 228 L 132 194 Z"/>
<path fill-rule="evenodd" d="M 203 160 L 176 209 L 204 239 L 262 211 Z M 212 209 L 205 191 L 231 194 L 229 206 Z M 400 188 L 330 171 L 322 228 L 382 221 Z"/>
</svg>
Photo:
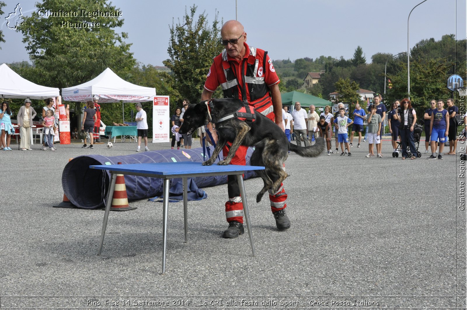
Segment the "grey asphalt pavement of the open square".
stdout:
<svg viewBox="0 0 467 310">
<path fill-rule="evenodd" d="M 462 142 L 462 143 L 461 143 Z M 424 150 L 420 144 L 420 149 Z M 356 143 L 355 143 L 356 145 Z M 194 142 L 199 147 L 198 140 Z M 463 141 L 458 151 L 464 147 Z M 85 154 L 135 154 L 135 143 L 1 151 L 0 307 L 14 309 L 466 308 L 465 162 L 366 158 L 368 144 L 318 158 L 291 154 L 285 168 L 291 228 L 276 230 L 262 180 L 245 181 L 248 233 L 222 239 L 226 184 L 208 198 L 169 205 L 166 273 L 162 204 L 111 212 L 52 208 L 62 171 Z M 149 143 L 151 150 L 169 143 Z M 83 193 L 85 195 L 85 193 Z M 246 228 L 245 228 L 246 229 Z M 10 297 L 7 297 L 10 296 Z"/>
</svg>

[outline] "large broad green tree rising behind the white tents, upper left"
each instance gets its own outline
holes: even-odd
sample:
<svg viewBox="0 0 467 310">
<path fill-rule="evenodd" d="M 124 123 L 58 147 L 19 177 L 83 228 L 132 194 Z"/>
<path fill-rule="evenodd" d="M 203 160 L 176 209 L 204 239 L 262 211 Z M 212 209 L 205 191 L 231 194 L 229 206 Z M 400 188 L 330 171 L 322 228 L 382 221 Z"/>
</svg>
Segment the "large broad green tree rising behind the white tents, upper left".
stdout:
<svg viewBox="0 0 467 310">
<path fill-rule="evenodd" d="M 110 3 L 105 0 L 44 0 L 35 6 L 37 9 L 30 17 L 25 17 L 17 29 L 24 35 L 22 42 L 35 65 L 33 70 L 28 70 L 29 78 L 34 82 L 58 88 L 70 87 L 89 81 L 107 67 L 124 76 L 134 66 L 135 61 L 129 52 L 131 44 L 123 42 L 127 34 L 114 30 L 123 25 L 123 19 L 81 17 L 83 8 L 89 12 L 118 10 Z M 57 12 L 64 8 L 78 12 L 78 16 L 45 18 L 38 14 L 41 10 Z M 86 26 L 71 28 L 74 23 L 85 23 Z"/>
</svg>

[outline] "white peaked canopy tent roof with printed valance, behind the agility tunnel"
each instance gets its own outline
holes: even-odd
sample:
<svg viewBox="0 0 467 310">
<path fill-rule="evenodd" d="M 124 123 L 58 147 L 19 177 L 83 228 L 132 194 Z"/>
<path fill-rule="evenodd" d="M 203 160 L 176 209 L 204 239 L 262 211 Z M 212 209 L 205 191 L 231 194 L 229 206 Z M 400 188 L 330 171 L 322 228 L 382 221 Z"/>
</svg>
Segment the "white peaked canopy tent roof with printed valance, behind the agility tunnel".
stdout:
<svg viewBox="0 0 467 310">
<path fill-rule="evenodd" d="M 106 102 L 145 102 L 152 101 L 156 96 L 156 88 L 131 84 L 110 68 L 104 70 L 91 81 L 81 85 L 62 88 L 64 101 L 85 102 L 92 100 L 92 96 L 99 97 L 99 103 Z"/>
</svg>

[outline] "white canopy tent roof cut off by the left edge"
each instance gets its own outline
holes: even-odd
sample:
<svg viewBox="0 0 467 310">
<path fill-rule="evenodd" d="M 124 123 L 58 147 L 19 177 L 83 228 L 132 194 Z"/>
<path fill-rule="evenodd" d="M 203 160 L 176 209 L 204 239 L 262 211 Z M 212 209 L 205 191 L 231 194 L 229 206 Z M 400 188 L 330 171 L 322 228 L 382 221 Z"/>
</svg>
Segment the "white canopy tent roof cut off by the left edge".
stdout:
<svg viewBox="0 0 467 310">
<path fill-rule="evenodd" d="M 55 87 L 37 85 L 21 77 L 2 63 L 0 65 L 0 97 L 46 99 L 58 97 L 60 90 Z"/>
</svg>

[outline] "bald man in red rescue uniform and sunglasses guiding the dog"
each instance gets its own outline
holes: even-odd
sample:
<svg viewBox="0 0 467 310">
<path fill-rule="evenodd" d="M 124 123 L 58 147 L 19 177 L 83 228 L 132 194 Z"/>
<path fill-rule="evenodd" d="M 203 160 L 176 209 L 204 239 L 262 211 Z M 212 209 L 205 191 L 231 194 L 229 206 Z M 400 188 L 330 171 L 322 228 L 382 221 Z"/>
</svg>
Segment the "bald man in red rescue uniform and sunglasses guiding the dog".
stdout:
<svg viewBox="0 0 467 310">
<path fill-rule="evenodd" d="M 248 100 L 248 104 L 265 115 L 277 126 L 283 128 L 282 99 L 279 91 L 279 77 L 271 59 L 262 49 L 248 46 L 247 33 L 238 21 L 227 21 L 220 30 L 221 43 L 226 49 L 214 58 L 204 85 L 201 100 L 209 100 L 220 85 L 224 98 Z M 213 132 L 212 126 L 208 126 Z M 224 156 L 228 153 L 224 148 Z M 241 146 L 231 164 L 245 165 L 247 147 Z M 273 180 L 274 181 L 274 180 Z M 229 227 L 224 231 L 224 238 L 237 238 L 244 233 L 243 204 L 240 197 L 236 176 L 228 176 L 226 218 Z M 290 228 L 290 220 L 285 214 L 287 193 L 283 184 L 276 192 L 269 192 L 271 211 L 276 219 L 278 230 Z"/>
</svg>

